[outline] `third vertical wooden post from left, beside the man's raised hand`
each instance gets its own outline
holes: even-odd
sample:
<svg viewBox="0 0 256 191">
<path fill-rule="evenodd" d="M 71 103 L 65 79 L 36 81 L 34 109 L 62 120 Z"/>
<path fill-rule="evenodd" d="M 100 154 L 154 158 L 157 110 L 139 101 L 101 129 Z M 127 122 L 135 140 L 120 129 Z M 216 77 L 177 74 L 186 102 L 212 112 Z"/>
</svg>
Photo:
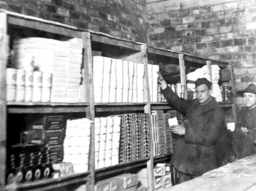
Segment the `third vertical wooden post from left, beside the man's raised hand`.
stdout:
<svg viewBox="0 0 256 191">
<path fill-rule="evenodd" d="M 141 45 L 141 60 L 145 65 L 145 77 L 146 77 L 146 97 L 147 103 L 145 106 L 145 113 L 148 113 L 149 117 L 149 136 L 150 136 L 150 160 L 146 162 L 148 168 L 148 191 L 154 190 L 154 175 L 153 175 L 153 136 L 152 136 L 152 124 L 150 120 L 151 115 L 151 104 L 150 104 L 150 87 L 148 80 L 148 56 L 146 54 L 146 45 Z"/>
</svg>

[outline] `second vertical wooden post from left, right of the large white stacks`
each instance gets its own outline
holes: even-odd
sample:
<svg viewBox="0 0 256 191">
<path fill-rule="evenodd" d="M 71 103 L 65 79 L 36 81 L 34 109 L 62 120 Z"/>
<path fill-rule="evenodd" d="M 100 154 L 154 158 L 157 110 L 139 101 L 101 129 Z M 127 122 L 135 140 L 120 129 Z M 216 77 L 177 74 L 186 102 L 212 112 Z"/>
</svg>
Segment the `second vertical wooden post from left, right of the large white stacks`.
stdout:
<svg viewBox="0 0 256 191">
<path fill-rule="evenodd" d="M 86 88 L 86 98 L 89 101 L 90 110 L 87 111 L 87 118 L 89 118 L 92 123 L 90 125 L 90 152 L 89 152 L 89 176 L 87 178 L 87 190 L 94 190 L 95 184 L 95 129 L 94 129 L 94 83 L 93 83 L 93 71 L 92 71 L 92 48 L 90 32 L 82 32 L 83 38 L 83 66 L 85 68 L 85 88 Z"/>
</svg>

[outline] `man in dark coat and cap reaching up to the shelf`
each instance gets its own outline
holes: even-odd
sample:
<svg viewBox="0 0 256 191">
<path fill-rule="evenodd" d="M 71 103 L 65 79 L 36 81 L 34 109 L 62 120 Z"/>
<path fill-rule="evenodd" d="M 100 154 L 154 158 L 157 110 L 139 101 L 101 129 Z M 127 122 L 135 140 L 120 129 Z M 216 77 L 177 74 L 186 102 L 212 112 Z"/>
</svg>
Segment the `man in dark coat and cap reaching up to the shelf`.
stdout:
<svg viewBox="0 0 256 191">
<path fill-rule="evenodd" d="M 181 183 L 217 168 L 215 142 L 224 125 L 224 111 L 211 96 L 211 82 L 206 78 L 195 81 L 197 99 L 188 101 L 178 97 L 158 74 L 167 102 L 186 118 L 184 125 L 171 126 L 178 135 L 171 164 L 179 171 Z"/>
</svg>

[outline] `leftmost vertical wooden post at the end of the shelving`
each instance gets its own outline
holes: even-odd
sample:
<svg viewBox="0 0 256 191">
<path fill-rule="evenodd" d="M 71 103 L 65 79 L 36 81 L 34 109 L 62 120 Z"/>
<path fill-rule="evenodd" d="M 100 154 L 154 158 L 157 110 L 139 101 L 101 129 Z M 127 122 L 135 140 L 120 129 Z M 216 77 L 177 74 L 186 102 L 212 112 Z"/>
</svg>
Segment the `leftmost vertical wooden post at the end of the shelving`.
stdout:
<svg viewBox="0 0 256 191">
<path fill-rule="evenodd" d="M 0 13 L 0 190 L 4 190 L 6 173 L 6 65 L 8 62 L 7 16 Z"/>
</svg>

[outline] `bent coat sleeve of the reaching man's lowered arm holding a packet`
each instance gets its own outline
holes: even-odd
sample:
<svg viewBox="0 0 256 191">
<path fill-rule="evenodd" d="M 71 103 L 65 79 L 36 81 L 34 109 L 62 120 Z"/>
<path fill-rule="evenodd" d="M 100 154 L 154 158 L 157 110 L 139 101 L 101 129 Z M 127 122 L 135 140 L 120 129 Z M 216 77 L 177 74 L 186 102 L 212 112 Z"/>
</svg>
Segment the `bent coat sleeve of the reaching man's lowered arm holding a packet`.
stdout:
<svg viewBox="0 0 256 191">
<path fill-rule="evenodd" d="M 224 111 L 217 108 L 210 112 L 211 115 L 208 117 L 206 124 L 204 124 L 202 131 L 197 131 L 197 128 L 191 127 L 190 124 L 187 125 L 185 141 L 198 145 L 213 145 L 222 125 L 224 125 Z"/>
</svg>

